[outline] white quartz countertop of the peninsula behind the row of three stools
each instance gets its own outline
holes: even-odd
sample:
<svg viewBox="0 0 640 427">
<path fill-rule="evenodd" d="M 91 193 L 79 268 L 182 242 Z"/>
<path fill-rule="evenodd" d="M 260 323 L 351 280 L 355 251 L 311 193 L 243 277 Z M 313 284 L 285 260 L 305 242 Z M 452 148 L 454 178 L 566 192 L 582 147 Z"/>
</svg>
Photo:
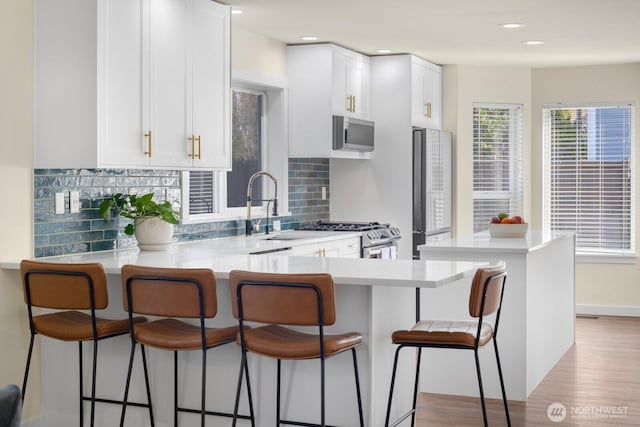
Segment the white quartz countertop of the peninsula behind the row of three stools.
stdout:
<svg viewBox="0 0 640 427">
<path fill-rule="evenodd" d="M 273 273 L 329 273 L 337 284 L 401 287 L 438 287 L 475 272 L 482 263 L 457 261 L 379 260 L 287 256 L 285 251 L 264 255 L 251 253 L 277 250 L 323 241 L 359 236 L 359 233 L 291 231 L 285 240 L 266 240 L 272 235 L 198 240 L 171 245 L 168 251 L 140 251 L 137 248 L 87 252 L 38 258 L 61 263 L 99 262 L 107 274 L 120 274 L 125 264 L 172 268 L 211 268 L 216 277 L 227 279 L 231 270 Z M 20 260 L 0 267 L 17 270 Z"/>
</svg>

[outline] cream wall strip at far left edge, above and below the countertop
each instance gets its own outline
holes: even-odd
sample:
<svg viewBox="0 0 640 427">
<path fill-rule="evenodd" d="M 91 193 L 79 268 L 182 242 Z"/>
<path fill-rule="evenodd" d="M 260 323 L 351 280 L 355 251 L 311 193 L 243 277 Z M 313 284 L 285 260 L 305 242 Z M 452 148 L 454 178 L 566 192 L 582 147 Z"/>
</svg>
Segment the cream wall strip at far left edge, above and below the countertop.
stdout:
<svg viewBox="0 0 640 427">
<path fill-rule="evenodd" d="M 0 2 L 0 259 L 32 256 L 33 61 L 32 2 Z M 0 270 L 0 385 L 22 386 L 29 343 L 19 275 Z M 23 419 L 40 414 L 38 355 Z"/>
</svg>

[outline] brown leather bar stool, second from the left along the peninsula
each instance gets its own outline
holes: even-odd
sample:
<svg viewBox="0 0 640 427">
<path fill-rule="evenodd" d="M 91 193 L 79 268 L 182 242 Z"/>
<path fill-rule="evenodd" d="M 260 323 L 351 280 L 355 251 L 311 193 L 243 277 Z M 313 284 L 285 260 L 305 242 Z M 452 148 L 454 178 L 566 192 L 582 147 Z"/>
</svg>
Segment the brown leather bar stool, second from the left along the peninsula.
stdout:
<svg viewBox="0 0 640 427">
<path fill-rule="evenodd" d="M 131 355 L 120 425 L 124 424 L 133 358 L 138 343 L 143 352 L 145 345 L 173 351 L 173 422 L 176 427 L 178 412 L 200 414 L 200 424 L 203 427 L 205 415 L 233 417 L 234 413 L 205 410 L 207 350 L 235 341 L 239 331 L 238 325 L 224 328 L 205 327 L 204 319 L 215 317 L 218 310 L 216 279 L 213 271 L 207 268 L 182 269 L 125 265 L 122 267 L 122 291 L 124 308 L 129 312 L 129 319 L 133 319 L 134 313 L 162 318 L 131 325 L 133 331 Z M 197 318 L 200 321 L 195 325 L 176 317 Z M 185 350 L 202 350 L 200 409 L 189 409 L 178 405 L 178 352 Z M 241 363 L 239 385 L 242 383 L 242 372 Z M 253 410 L 252 406 L 251 410 Z M 238 417 L 253 419 L 253 412 L 251 416 Z"/>
</svg>

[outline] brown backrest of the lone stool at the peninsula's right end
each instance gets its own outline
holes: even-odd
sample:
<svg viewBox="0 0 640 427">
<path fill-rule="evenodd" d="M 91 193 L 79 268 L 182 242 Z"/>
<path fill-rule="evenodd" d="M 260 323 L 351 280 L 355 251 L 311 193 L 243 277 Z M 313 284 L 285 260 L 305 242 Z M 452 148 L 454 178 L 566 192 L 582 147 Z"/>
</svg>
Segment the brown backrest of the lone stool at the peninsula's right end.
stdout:
<svg viewBox="0 0 640 427">
<path fill-rule="evenodd" d="M 500 309 L 506 279 L 504 262 L 476 270 L 469 294 L 469 314 L 472 317 L 490 315 Z"/>
</svg>

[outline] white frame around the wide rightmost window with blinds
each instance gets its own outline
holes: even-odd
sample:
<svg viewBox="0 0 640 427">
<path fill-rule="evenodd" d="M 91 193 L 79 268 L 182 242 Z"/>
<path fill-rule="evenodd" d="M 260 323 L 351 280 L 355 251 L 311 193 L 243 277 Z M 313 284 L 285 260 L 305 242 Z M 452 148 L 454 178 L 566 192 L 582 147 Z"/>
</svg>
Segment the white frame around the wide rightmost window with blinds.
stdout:
<svg viewBox="0 0 640 427">
<path fill-rule="evenodd" d="M 579 248 L 576 244 L 576 261 L 585 263 L 635 263 L 637 260 L 637 248 L 636 248 L 636 191 L 638 182 L 636 179 L 636 124 L 635 116 L 636 105 L 635 102 L 583 102 L 583 103 L 567 103 L 567 104 L 545 104 L 542 107 L 542 228 L 546 231 L 551 231 L 551 201 L 553 197 L 551 194 L 551 140 L 550 129 L 548 129 L 547 114 L 551 110 L 576 110 L 576 109 L 605 109 L 616 107 L 629 107 L 630 122 L 629 122 L 629 135 L 630 135 L 630 154 L 629 154 L 629 168 L 630 168 L 630 190 L 629 190 L 629 249 L 612 249 L 612 248 Z M 602 175 L 599 175 L 602 176 Z M 577 242 L 577 239 L 576 239 Z"/>
</svg>

